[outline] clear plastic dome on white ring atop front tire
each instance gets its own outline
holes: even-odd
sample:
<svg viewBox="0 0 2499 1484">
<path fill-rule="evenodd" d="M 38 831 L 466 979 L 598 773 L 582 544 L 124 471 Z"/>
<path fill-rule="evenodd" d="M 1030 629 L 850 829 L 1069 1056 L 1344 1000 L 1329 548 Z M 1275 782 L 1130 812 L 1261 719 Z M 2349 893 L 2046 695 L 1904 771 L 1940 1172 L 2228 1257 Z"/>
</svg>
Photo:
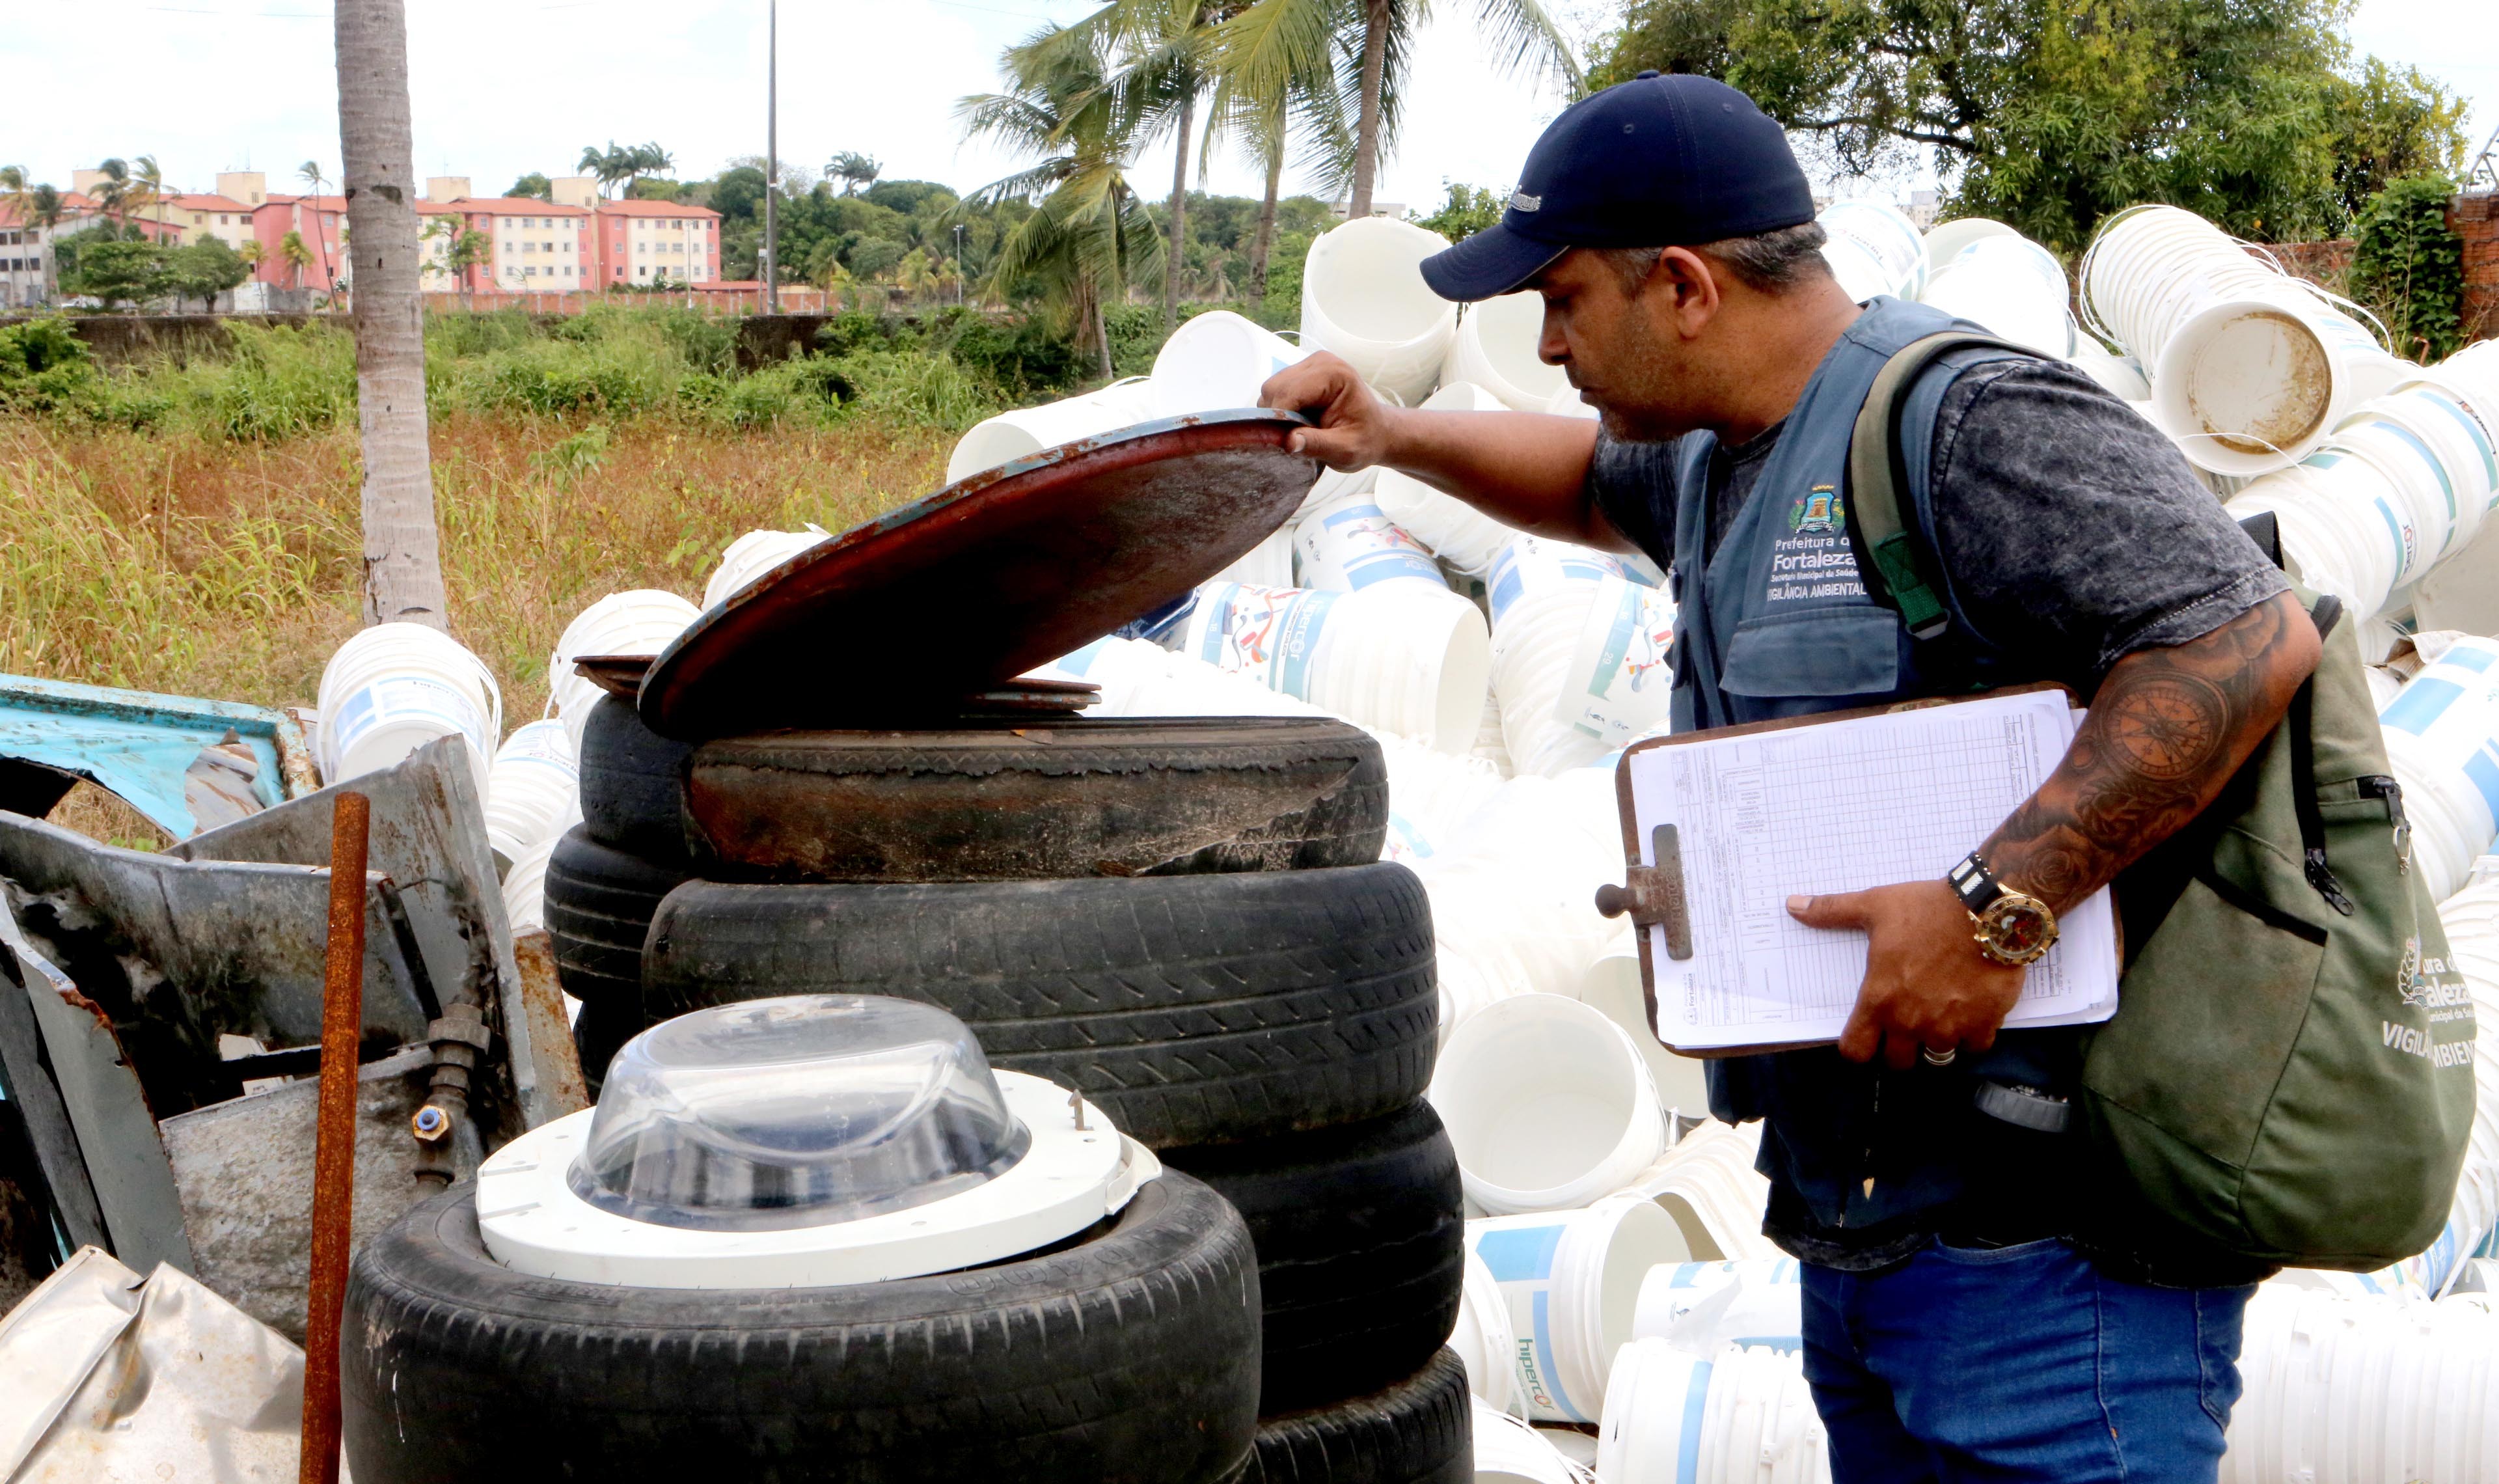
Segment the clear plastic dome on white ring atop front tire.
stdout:
<svg viewBox="0 0 2499 1484">
<path fill-rule="evenodd" d="M 625 1042 L 572 1189 L 660 1227 L 775 1232 L 960 1194 L 1030 1144 L 952 1014 L 792 994 L 697 1009 Z"/>
</svg>

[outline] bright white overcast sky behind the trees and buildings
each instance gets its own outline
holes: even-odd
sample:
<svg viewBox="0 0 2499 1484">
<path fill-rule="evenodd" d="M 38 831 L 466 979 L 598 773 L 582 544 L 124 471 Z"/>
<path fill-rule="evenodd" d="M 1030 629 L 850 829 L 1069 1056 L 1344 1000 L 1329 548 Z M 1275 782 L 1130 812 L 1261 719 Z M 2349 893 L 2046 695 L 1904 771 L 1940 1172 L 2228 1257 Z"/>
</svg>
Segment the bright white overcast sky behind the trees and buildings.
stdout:
<svg viewBox="0 0 2499 1484">
<path fill-rule="evenodd" d="M 1095 0 L 782 0 L 780 152 L 822 167 L 865 150 L 892 177 L 975 187 L 1015 167 L 965 145 L 955 100 L 997 82 L 997 52 Z M 1407 137 L 1379 197 L 1432 205 L 1442 180 L 1507 187 L 1562 100 L 1492 67 L 1472 5 L 1427 27 Z M 1592 37 L 1612 0 L 1562 0 Z M 657 140 L 710 175 L 765 142 L 765 0 L 410 0 L 417 175 L 495 192 L 527 170 L 567 175 L 582 145 Z M 2362 0 L 2359 50 L 2409 62 L 2474 100 L 2474 145 L 2499 127 L 2499 5 Z M 272 190 L 320 160 L 337 175 L 330 12 L 320 0 L 0 0 L 0 165 L 70 182 L 105 155 L 152 152 L 170 180 L 265 170 Z M 1170 147 L 1135 180 L 1170 190 Z M 1212 187 L 1254 195 L 1240 160 Z"/>
</svg>

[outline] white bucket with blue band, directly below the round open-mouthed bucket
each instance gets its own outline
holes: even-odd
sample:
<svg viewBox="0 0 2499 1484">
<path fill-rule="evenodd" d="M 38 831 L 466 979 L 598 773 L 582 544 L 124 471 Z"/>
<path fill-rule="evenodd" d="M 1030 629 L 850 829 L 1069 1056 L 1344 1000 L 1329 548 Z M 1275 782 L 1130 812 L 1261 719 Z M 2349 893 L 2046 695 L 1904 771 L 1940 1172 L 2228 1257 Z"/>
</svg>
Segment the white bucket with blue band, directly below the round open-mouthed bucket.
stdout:
<svg viewBox="0 0 2499 1484">
<path fill-rule="evenodd" d="M 1527 1417 L 1604 1417 L 1607 1372 L 1632 1339 L 1639 1284 L 1682 1257 L 1674 1222 L 1639 1197 L 1607 1197 L 1569 1212 L 1467 1222 L 1467 1249 L 1502 1284 Z"/>
</svg>

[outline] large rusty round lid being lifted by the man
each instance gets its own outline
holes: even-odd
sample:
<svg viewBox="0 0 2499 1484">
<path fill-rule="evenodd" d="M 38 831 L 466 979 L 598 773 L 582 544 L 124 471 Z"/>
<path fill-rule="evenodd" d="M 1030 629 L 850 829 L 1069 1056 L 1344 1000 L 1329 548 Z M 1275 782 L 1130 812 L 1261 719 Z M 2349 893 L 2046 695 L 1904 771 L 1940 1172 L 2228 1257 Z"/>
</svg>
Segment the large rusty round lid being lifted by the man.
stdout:
<svg viewBox="0 0 2499 1484">
<path fill-rule="evenodd" d="M 1222 572 L 1319 475 L 1309 422 L 1140 422 L 880 515 L 705 612 L 642 677 L 642 722 L 702 742 L 945 715 Z"/>
</svg>

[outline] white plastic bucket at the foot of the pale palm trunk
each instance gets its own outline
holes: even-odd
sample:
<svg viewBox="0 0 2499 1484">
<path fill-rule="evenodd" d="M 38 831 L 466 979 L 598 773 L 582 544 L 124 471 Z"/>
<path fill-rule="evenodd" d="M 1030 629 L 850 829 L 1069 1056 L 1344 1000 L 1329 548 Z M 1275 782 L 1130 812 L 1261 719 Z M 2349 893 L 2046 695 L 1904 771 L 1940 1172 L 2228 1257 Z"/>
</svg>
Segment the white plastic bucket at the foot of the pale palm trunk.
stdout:
<svg viewBox="0 0 2499 1484">
<path fill-rule="evenodd" d="M 480 789 L 502 735 L 502 690 L 482 660 L 427 625 L 375 625 L 320 675 L 315 749 L 325 782 L 395 767 L 437 737 L 467 737 Z"/>
</svg>

